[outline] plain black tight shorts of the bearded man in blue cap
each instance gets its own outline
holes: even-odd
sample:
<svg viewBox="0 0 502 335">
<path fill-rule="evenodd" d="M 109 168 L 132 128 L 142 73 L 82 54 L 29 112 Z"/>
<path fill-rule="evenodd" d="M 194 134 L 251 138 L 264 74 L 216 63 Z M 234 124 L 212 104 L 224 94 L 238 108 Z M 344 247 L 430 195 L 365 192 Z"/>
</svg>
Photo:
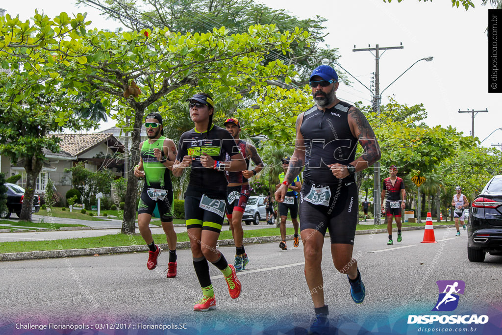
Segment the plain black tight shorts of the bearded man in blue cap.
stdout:
<svg viewBox="0 0 502 335">
<path fill-rule="evenodd" d="M 319 185 L 317 185 L 319 186 Z M 329 205 L 314 205 L 305 199 L 312 184 L 305 181 L 300 191 L 300 231 L 315 229 L 323 236 L 329 230 L 331 244 L 354 244 L 357 226 L 357 186 L 330 186 Z"/>
</svg>

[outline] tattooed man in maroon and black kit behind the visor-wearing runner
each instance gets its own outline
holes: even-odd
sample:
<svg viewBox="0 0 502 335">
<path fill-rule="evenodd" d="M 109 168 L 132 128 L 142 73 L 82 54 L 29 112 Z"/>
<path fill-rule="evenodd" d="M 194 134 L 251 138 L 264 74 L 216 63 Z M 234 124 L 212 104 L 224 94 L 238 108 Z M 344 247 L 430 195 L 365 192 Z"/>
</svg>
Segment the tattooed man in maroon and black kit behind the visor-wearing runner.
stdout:
<svg viewBox="0 0 502 335">
<path fill-rule="evenodd" d="M 235 261 L 233 266 L 235 267 L 235 271 L 239 272 L 245 270 L 245 266 L 249 263 L 249 258 L 242 243 L 244 231 L 241 224 L 242 215 L 246 209 L 247 199 L 251 192 L 247 179 L 256 176 L 257 173 L 262 171 L 265 164 L 263 164 L 262 158 L 258 155 L 255 146 L 240 139 L 240 123 L 237 119 L 227 119 L 223 125 L 235 139 L 235 144 L 242 156 L 245 157 L 246 162 L 246 169 L 244 171 L 226 172 L 226 179 L 228 180 L 226 216 L 230 222 L 230 229 L 232 230 L 232 237 L 235 243 Z M 254 170 L 249 170 L 249 160 L 252 160 L 255 164 Z"/>
</svg>

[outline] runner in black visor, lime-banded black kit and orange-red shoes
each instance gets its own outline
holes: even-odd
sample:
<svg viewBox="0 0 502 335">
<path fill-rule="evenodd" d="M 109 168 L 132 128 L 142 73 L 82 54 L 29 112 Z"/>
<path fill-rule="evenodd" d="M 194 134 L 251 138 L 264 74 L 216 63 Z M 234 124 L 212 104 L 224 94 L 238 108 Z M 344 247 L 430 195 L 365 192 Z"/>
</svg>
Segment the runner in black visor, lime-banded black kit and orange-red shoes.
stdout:
<svg viewBox="0 0 502 335">
<path fill-rule="evenodd" d="M 180 137 L 173 175 L 179 177 L 185 168 L 192 167 L 185 191 L 185 219 L 193 267 L 204 294 L 193 309 L 207 311 L 216 307 L 208 261 L 223 273 L 230 297 L 235 299 L 240 295 L 235 268 L 216 249 L 216 243 L 225 213 L 225 171 L 242 171 L 245 163 L 228 132 L 213 125 L 211 96 L 198 93 L 187 101 L 195 127 Z M 225 161 L 227 153 L 230 162 Z"/>
</svg>

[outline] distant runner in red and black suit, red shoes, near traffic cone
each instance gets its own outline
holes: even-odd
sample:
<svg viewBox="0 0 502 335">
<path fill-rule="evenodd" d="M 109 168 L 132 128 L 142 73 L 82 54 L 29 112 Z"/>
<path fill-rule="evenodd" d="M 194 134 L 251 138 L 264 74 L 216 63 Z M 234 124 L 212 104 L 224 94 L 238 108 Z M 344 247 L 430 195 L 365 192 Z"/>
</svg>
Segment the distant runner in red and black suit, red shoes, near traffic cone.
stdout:
<svg viewBox="0 0 502 335">
<path fill-rule="evenodd" d="M 401 211 L 405 209 L 406 191 L 405 183 L 402 178 L 397 176 L 398 168 L 391 165 L 391 176 L 384 179 L 382 187 L 382 212 L 387 217 L 387 232 L 389 233 L 388 245 L 394 244 L 392 241 L 392 216 L 396 218 L 396 226 L 398 226 L 398 242 L 403 240 L 401 236 Z M 403 197 L 401 199 L 401 197 Z M 385 200 L 385 201 L 384 201 Z"/>
</svg>

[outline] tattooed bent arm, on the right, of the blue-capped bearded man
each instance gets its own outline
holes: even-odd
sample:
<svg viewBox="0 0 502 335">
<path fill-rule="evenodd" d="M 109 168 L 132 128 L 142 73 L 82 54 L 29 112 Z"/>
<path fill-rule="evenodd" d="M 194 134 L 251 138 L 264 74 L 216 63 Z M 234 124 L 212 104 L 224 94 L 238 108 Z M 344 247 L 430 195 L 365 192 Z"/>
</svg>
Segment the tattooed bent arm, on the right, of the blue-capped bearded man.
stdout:
<svg viewBox="0 0 502 335">
<path fill-rule="evenodd" d="M 348 124 L 350 132 L 358 139 L 359 144 L 364 150 L 363 154 L 351 162 L 350 165 L 355 167 L 356 172 L 362 171 L 380 159 L 380 146 L 366 117 L 354 106 L 348 109 Z M 337 178 L 345 178 L 349 175 L 345 165 L 330 164 L 328 166 Z"/>
</svg>

